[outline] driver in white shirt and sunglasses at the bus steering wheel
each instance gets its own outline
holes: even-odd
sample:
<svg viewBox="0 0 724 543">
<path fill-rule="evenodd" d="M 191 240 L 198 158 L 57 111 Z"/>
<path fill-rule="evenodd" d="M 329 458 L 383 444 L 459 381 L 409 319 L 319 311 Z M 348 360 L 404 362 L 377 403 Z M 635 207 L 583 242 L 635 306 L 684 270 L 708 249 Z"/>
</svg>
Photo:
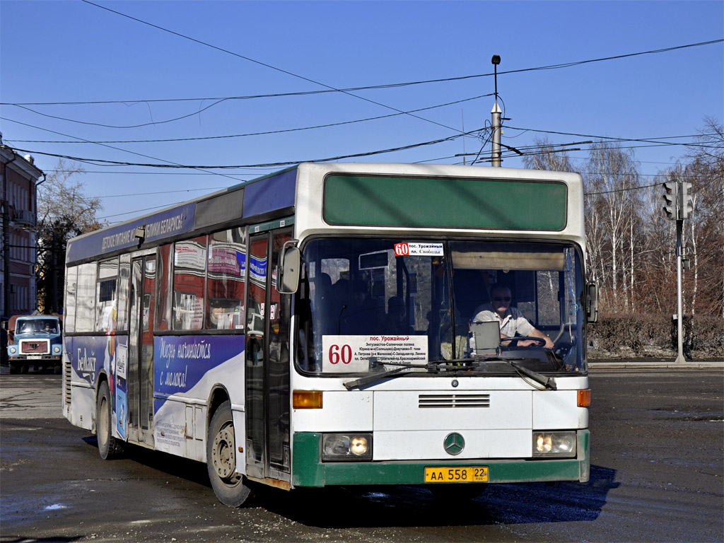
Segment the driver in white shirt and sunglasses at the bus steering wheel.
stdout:
<svg viewBox="0 0 724 543">
<path fill-rule="evenodd" d="M 521 336 L 540 337 L 545 340 L 545 347 L 552 348 L 553 341 L 546 334 L 536 329 L 523 316 L 518 308 L 510 307 L 510 289 L 505 285 L 493 285 L 490 290 L 490 303 L 484 303 L 476 308 L 473 315 L 473 322 L 497 321 L 500 324 L 500 339 L 503 344 L 510 345 L 510 340 L 514 339 L 515 334 Z M 508 340 L 507 342 L 505 340 Z M 529 345 L 540 345 L 535 340 L 523 340 L 518 342 L 521 347 Z"/>
</svg>

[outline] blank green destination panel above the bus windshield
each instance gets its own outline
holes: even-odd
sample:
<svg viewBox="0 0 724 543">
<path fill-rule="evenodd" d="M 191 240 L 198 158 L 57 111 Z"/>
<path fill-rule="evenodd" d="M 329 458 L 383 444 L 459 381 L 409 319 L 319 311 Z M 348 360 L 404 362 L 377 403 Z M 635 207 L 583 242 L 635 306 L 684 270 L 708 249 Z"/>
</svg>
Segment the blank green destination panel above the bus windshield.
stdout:
<svg viewBox="0 0 724 543">
<path fill-rule="evenodd" d="M 330 175 L 324 182 L 329 224 L 560 231 L 563 182 Z"/>
</svg>

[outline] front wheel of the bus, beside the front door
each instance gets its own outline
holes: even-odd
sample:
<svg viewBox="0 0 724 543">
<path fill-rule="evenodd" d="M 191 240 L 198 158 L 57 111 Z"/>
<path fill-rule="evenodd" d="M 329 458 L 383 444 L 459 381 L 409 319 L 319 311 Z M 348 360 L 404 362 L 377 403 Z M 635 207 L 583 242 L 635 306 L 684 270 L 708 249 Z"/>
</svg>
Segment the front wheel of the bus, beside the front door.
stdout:
<svg viewBox="0 0 724 543">
<path fill-rule="evenodd" d="M 236 472 L 236 439 L 229 400 L 214 411 L 206 439 L 206 468 L 214 494 L 230 507 L 241 507 L 251 495 L 244 476 Z"/>
</svg>

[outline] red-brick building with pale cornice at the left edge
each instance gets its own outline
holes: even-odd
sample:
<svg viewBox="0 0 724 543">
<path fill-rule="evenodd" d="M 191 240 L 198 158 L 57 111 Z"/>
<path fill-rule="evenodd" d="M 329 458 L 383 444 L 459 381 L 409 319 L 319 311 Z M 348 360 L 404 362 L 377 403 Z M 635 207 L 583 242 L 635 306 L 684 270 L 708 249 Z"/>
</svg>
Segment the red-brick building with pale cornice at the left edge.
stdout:
<svg viewBox="0 0 724 543">
<path fill-rule="evenodd" d="M 44 174 L 33 157 L 2 143 L 0 135 L 0 316 L 32 313 L 37 304 L 35 263 L 38 223 L 35 185 Z"/>
</svg>

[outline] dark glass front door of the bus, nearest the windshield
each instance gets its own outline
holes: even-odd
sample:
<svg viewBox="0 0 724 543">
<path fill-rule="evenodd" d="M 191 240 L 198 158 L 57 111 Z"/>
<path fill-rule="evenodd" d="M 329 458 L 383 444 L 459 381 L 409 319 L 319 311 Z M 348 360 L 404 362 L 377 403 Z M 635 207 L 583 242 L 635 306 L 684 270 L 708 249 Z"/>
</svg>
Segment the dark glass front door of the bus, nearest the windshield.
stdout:
<svg viewBox="0 0 724 543">
<path fill-rule="evenodd" d="M 246 466 L 257 479 L 290 480 L 289 324 L 291 295 L 274 268 L 291 230 L 252 235 L 246 329 Z"/>
</svg>

